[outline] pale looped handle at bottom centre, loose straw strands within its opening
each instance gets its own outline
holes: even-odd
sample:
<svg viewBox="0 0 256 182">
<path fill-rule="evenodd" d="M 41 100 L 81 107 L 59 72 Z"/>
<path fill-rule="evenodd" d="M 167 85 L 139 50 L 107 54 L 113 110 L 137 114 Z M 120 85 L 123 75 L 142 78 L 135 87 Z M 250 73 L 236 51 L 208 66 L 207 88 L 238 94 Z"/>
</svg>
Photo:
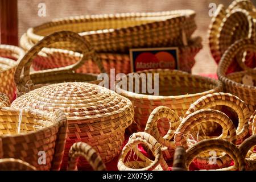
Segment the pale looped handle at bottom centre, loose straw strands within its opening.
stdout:
<svg viewBox="0 0 256 182">
<path fill-rule="evenodd" d="M 140 151 L 135 150 L 134 147 L 137 147 L 138 144 L 146 145 L 153 152 L 155 156 L 155 160 L 152 161 L 148 159 L 146 156 L 144 156 Z M 125 162 L 125 158 L 128 152 L 129 151 L 131 152 L 131 150 L 133 150 L 133 152 L 138 156 L 138 159 L 142 159 L 144 160 L 145 163 L 151 163 L 151 164 L 141 169 L 134 169 L 134 168 L 127 167 L 125 165 L 125 163 L 127 163 Z M 123 147 L 121 155 L 119 156 L 119 159 L 118 159 L 117 167 L 119 171 L 152 171 L 159 165 L 160 167 L 162 167 L 164 171 L 168 170 L 167 163 L 163 159 L 160 144 L 150 134 L 144 133 L 144 132 L 138 132 L 131 135 L 129 141 L 127 142 L 125 147 Z"/>
</svg>

